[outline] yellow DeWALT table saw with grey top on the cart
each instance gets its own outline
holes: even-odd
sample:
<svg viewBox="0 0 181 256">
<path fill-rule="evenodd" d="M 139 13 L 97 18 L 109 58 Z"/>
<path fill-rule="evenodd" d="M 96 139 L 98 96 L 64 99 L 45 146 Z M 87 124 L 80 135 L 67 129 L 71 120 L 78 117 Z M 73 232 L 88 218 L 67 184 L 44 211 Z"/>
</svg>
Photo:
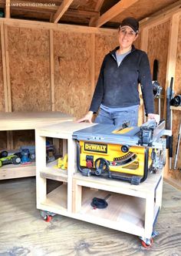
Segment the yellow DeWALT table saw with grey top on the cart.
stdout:
<svg viewBox="0 0 181 256">
<path fill-rule="evenodd" d="M 77 169 L 84 176 L 100 176 L 140 184 L 148 172 L 155 173 L 165 164 L 165 121 L 154 120 L 142 126 L 119 129 L 96 124 L 73 133 L 77 140 Z"/>
</svg>

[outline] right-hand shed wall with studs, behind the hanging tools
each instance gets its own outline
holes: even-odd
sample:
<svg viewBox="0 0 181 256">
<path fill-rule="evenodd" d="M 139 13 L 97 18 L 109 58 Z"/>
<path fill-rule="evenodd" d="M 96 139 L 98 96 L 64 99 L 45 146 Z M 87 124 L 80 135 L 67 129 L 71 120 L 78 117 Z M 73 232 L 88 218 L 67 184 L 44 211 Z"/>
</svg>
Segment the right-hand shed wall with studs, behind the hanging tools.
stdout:
<svg viewBox="0 0 181 256">
<path fill-rule="evenodd" d="M 171 76 L 174 78 L 174 92 L 181 93 L 181 11 L 176 10 L 173 14 L 154 17 L 142 27 L 146 32 L 145 39 L 142 40 L 141 48 L 148 53 L 151 70 L 153 71 L 153 60 L 159 61 L 158 81 L 163 87 L 162 116 L 166 118 L 166 89 L 169 86 Z M 173 111 L 173 162 L 176 152 L 176 141 L 181 122 L 180 111 Z M 181 153 L 179 150 L 179 160 L 177 167 L 181 167 Z M 169 184 L 181 189 L 181 172 L 179 170 L 169 170 L 165 172 L 165 180 Z"/>
</svg>

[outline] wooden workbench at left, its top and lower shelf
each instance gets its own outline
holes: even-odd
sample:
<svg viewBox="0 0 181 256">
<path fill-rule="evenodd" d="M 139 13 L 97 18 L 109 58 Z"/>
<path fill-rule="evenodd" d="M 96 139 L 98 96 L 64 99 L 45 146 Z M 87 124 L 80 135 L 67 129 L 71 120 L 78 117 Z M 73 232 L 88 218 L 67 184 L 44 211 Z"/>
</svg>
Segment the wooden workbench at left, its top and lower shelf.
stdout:
<svg viewBox="0 0 181 256">
<path fill-rule="evenodd" d="M 13 130 L 35 130 L 65 120 L 74 120 L 74 118 L 61 112 L 1 112 L 0 131 L 7 131 L 8 140 L 12 140 Z M 0 168 L 0 180 L 31 176 L 35 176 L 35 162 L 24 166 L 8 164 Z"/>
</svg>

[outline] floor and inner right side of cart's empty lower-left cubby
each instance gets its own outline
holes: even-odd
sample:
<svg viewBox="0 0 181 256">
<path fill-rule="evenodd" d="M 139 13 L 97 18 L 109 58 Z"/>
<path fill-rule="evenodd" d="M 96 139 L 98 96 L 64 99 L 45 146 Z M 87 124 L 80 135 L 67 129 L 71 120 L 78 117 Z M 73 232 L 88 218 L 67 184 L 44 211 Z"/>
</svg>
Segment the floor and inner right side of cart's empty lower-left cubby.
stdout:
<svg viewBox="0 0 181 256">
<path fill-rule="evenodd" d="M 67 184 L 62 184 L 47 194 L 46 200 L 41 205 L 67 211 Z"/>
</svg>

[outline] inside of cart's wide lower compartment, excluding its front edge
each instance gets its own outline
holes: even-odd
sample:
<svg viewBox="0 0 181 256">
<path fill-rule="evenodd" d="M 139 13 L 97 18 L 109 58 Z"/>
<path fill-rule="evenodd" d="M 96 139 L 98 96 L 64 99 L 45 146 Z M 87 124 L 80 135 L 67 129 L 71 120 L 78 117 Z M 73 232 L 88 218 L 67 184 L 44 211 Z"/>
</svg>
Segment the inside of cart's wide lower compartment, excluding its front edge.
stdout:
<svg viewBox="0 0 181 256">
<path fill-rule="evenodd" d="M 83 187 L 81 214 L 100 217 L 110 221 L 117 221 L 119 224 L 131 222 L 138 227 L 143 227 L 145 214 L 145 199 L 130 197 L 124 194 L 117 194 L 104 190 L 93 190 Z M 107 198 L 107 208 L 96 209 L 91 206 L 94 197 Z"/>
</svg>

